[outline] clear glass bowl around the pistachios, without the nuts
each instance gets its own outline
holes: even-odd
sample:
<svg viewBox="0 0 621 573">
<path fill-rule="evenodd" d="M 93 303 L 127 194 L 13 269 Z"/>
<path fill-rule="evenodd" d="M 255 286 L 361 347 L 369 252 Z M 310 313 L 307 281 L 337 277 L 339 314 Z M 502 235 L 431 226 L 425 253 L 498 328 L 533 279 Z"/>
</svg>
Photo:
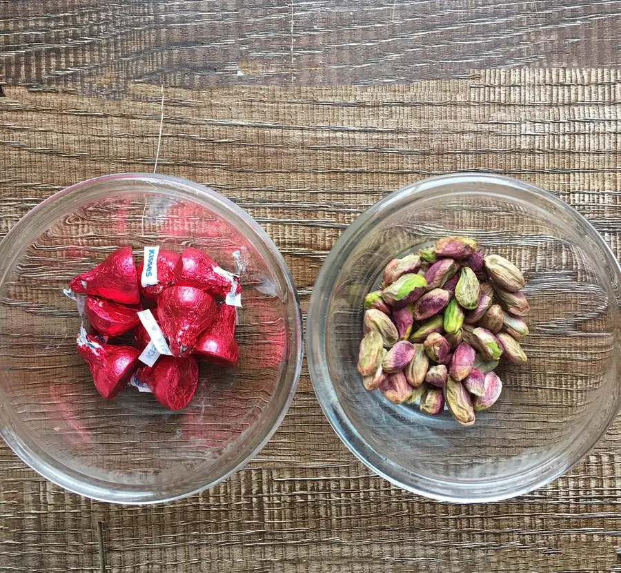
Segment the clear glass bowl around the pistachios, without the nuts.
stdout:
<svg viewBox="0 0 621 573">
<path fill-rule="evenodd" d="M 388 260 L 446 235 L 517 264 L 531 304 L 529 361 L 497 370 L 500 399 L 470 427 L 388 402 L 356 372 L 364 295 Z M 602 237 L 550 193 L 495 175 L 425 179 L 369 208 L 328 255 L 308 311 L 315 393 L 346 446 L 395 485 L 456 502 L 529 492 L 577 463 L 619 409 L 620 284 Z"/>
</svg>

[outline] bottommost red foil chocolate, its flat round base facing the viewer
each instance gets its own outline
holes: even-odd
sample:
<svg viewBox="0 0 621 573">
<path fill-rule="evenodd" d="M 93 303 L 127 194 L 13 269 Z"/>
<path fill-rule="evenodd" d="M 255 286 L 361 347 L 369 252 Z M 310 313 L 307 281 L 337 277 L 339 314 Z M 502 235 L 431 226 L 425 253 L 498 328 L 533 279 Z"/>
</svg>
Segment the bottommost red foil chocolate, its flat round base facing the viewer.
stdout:
<svg viewBox="0 0 621 573">
<path fill-rule="evenodd" d="M 136 374 L 153 391 L 155 399 L 170 410 L 188 405 L 198 385 L 198 365 L 192 356 L 161 356 L 152 367 L 144 366 Z"/>
</svg>

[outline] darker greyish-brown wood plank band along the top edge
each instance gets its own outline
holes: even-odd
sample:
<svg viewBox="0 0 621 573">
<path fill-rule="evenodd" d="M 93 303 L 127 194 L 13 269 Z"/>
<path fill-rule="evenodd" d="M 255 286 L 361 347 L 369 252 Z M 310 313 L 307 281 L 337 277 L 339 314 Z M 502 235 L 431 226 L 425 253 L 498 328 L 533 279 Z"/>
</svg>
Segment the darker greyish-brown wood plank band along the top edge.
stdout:
<svg viewBox="0 0 621 573">
<path fill-rule="evenodd" d="M 0 0 L 0 83 L 386 84 L 614 66 L 617 0 Z"/>
</svg>

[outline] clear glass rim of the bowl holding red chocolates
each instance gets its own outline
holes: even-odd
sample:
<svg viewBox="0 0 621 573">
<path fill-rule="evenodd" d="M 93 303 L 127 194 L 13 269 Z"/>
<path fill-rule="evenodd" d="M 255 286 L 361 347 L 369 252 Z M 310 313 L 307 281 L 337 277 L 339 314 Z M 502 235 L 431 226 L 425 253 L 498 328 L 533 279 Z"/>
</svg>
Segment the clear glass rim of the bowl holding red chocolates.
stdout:
<svg viewBox="0 0 621 573">
<path fill-rule="evenodd" d="M 244 222 L 252 229 L 252 231 L 257 235 L 257 237 L 264 243 L 264 246 L 268 251 L 270 251 L 271 255 L 274 258 L 274 261 L 277 263 L 278 269 L 282 274 L 284 282 L 286 283 L 286 294 L 288 297 L 292 298 L 293 307 L 295 312 L 293 315 L 288 316 L 288 321 L 292 325 L 292 330 L 295 333 L 295 344 L 297 345 L 297 352 L 290 353 L 289 362 L 293 362 L 295 360 L 295 367 L 293 368 L 293 377 L 290 382 L 290 386 L 288 387 L 286 398 L 283 402 L 282 409 L 279 411 L 278 415 L 275 417 L 273 424 L 268 429 L 264 437 L 248 451 L 246 456 L 239 460 L 239 462 L 232 467 L 228 468 L 227 471 L 209 483 L 204 483 L 199 485 L 198 487 L 193 487 L 191 489 L 187 489 L 186 491 L 174 492 L 170 495 L 159 495 L 159 492 L 148 492 L 146 494 L 142 494 L 141 492 L 136 492 L 133 489 L 121 489 L 120 494 L 119 490 L 112 490 L 110 487 L 104 487 L 99 485 L 99 483 L 109 483 L 106 480 L 96 479 L 97 485 L 93 485 L 92 483 L 87 483 L 86 480 L 81 480 L 80 476 L 84 476 L 81 472 L 72 469 L 64 464 L 50 463 L 50 460 L 57 460 L 54 456 L 47 456 L 50 458 L 41 457 L 41 455 L 37 454 L 33 451 L 33 448 L 30 446 L 29 441 L 25 440 L 21 436 L 17 436 L 17 434 L 12 431 L 10 424 L 7 423 L 8 418 L 8 407 L 3 400 L 3 392 L 0 389 L 0 436 L 6 441 L 9 447 L 14 451 L 24 463 L 26 463 L 30 468 L 34 469 L 35 472 L 43 476 L 44 478 L 50 480 L 50 482 L 67 489 L 70 492 L 75 494 L 79 494 L 86 498 L 94 499 L 96 501 L 103 501 L 108 503 L 119 503 L 123 505 L 154 505 L 157 503 L 167 503 L 169 501 L 174 501 L 180 498 L 185 498 L 188 496 L 192 496 L 194 494 L 203 492 L 205 489 L 213 487 L 221 481 L 226 480 L 229 476 L 237 472 L 239 469 L 242 469 L 250 460 L 255 458 L 259 451 L 261 451 L 265 445 L 268 443 L 270 438 L 273 436 L 275 431 L 282 424 L 282 420 L 286 415 L 291 402 L 293 401 L 293 397 L 295 396 L 295 391 L 297 389 L 297 384 L 299 382 L 300 374 L 302 373 L 302 364 L 304 358 L 304 336 L 303 336 L 303 322 L 302 322 L 302 309 L 300 307 L 299 295 L 297 293 L 297 287 L 295 286 L 295 281 L 293 280 L 293 275 L 288 268 L 282 253 L 277 248 L 276 244 L 270 238 L 270 236 L 264 231 L 262 226 L 260 226 L 253 217 L 251 217 L 244 209 L 237 206 L 234 202 L 229 200 L 224 195 L 221 195 L 217 191 L 209 188 L 207 186 L 201 185 L 199 183 L 190 181 L 189 179 L 184 179 L 181 177 L 174 177 L 172 175 L 160 175 L 159 173 L 111 173 L 108 175 L 101 175 L 99 177 L 92 177 L 91 179 L 85 179 L 84 181 L 77 182 L 68 187 L 57 191 L 50 197 L 47 197 L 45 200 L 34 206 L 26 215 L 21 217 L 21 219 L 12 226 L 12 228 L 5 235 L 3 240 L 0 242 L 0 253 L 3 251 L 7 251 L 8 246 L 14 242 L 17 235 L 19 235 L 20 231 L 30 223 L 30 221 L 39 215 L 41 211 L 44 209 L 48 209 L 52 206 L 56 206 L 59 199 L 71 197 L 72 195 L 76 195 L 77 193 L 83 191 L 85 187 L 91 186 L 92 184 L 97 184 L 101 182 L 105 182 L 108 179 L 119 180 L 119 179 L 141 179 L 146 182 L 168 182 L 168 184 L 172 184 L 175 186 L 175 190 L 180 193 L 184 193 L 186 197 L 191 198 L 195 202 L 199 202 L 206 204 L 210 202 L 212 205 L 214 203 L 220 204 L 226 210 L 233 213 L 233 215 L 241 218 Z M 161 195 L 166 195 L 166 192 L 154 191 L 154 193 L 159 193 Z M 81 200 L 80 200 L 81 201 Z M 18 253 L 19 255 L 19 253 Z M 14 257 L 17 258 L 17 255 Z M 12 262 L 12 261 L 11 261 Z M 6 273 L 8 271 L 6 260 L 3 258 L 0 259 L 0 284 L 4 282 L 6 277 Z M 45 453 L 45 450 L 43 450 Z M 63 471 L 64 470 L 64 471 Z M 92 480 L 92 478 L 90 478 Z M 174 489 L 174 488 L 171 488 Z"/>
</svg>

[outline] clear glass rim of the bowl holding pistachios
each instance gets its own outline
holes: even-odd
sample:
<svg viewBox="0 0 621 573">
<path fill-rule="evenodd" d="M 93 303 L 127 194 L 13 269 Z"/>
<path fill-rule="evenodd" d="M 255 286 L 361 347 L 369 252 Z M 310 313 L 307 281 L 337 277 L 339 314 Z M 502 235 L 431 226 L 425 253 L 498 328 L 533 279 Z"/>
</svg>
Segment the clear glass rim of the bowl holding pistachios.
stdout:
<svg viewBox="0 0 621 573">
<path fill-rule="evenodd" d="M 534 489 L 538 489 L 553 480 L 559 478 L 563 474 L 569 471 L 573 466 L 578 464 L 584 456 L 586 456 L 593 447 L 601 440 L 602 436 L 611 427 L 616 415 L 621 407 L 621 395 L 616 400 L 616 404 L 609 411 L 606 422 L 602 425 L 602 430 L 594 437 L 592 441 L 577 448 L 574 455 L 568 458 L 564 463 L 559 463 L 554 467 L 548 469 L 547 472 L 540 477 L 532 478 L 531 480 L 524 480 L 519 487 L 513 487 L 500 493 L 495 494 L 478 494 L 476 496 L 460 494 L 445 494 L 442 492 L 427 490 L 424 487 L 418 485 L 411 485 L 404 483 L 400 478 L 395 476 L 392 471 L 382 469 L 382 456 L 377 454 L 373 447 L 371 447 L 364 438 L 358 435 L 355 426 L 349 420 L 346 412 L 342 408 L 337 399 L 335 391 L 333 391 L 333 383 L 329 376 L 327 376 L 328 368 L 326 364 L 326 352 L 320 340 L 323 340 L 323 333 L 326 327 L 326 307 L 330 299 L 331 293 L 328 292 L 328 284 L 338 273 L 338 258 L 339 253 L 348 244 L 354 240 L 357 233 L 367 224 L 373 221 L 373 219 L 380 214 L 383 208 L 386 208 L 392 202 L 401 200 L 406 194 L 408 196 L 417 195 L 424 191 L 428 191 L 435 186 L 453 183 L 460 184 L 472 184 L 480 183 L 482 181 L 491 182 L 494 184 L 500 184 L 502 186 L 509 186 L 511 188 L 517 188 L 520 191 L 526 193 L 535 193 L 536 195 L 542 195 L 547 201 L 554 204 L 560 210 L 568 213 L 571 217 L 585 224 L 592 233 L 592 238 L 595 240 L 597 246 L 602 250 L 602 253 L 606 255 L 607 262 L 611 265 L 611 270 L 618 276 L 619 282 L 621 282 L 621 265 L 615 257 L 612 249 L 604 241 L 603 237 L 593 227 L 593 225 L 583 215 L 573 208 L 570 204 L 564 202 L 559 197 L 553 195 L 549 191 L 528 183 L 515 177 L 506 177 L 504 175 L 496 175 L 494 173 L 485 173 L 477 171 L 464 171 L 455 173 L 446 173 L 444 175 L 435 175 L 434 177 L 425 177 L 418 182 L 408 184 L 398 188 L 392 193 L 386 195 L 383 199 L 373 204 L 364 213 L 359 215 L 357 219 L 347 227 L 347 229 L 339 237 L 331 251 L 328 253 L 322 268 L 319 271 L 315 287 L 311 295 L 311 301 L 308 307 L 308 315 L 306 319 L 306 360 L 308 362 L 308 371 L 311 376 L 311 382 L 313 384 L 313 390 L 319 401 L 319 405 L 324 411 L 324 415 L 328 418 L 328 422 L 333 427 L 339 439 L 346 445 L 346 447 L 358 458 L 366 467 L 373 470 L 376 474 L 382 478 L 388 480 L 390 483 L 405 489 L 406 491 L 419 494 L 421 496 L 434 499 L 436 501 L 446 501 L 450 503 L 490 503 L 494 501 L 502 501 L 505 499 L 520 496 L 522 494 L 529 493 Z M 413 202 L 413 201 L 411 201 Z M 321 336 L 318 336 L 321 335 Z M 326 375 L 324 376 L 324 371 Z M 532 471 L 532 470 L 531 470 Z M 511 478 L 503 478 L 496 480 L 495 485 L 502 485 L 504 482 L 509 482 Z"/>
</svg>

